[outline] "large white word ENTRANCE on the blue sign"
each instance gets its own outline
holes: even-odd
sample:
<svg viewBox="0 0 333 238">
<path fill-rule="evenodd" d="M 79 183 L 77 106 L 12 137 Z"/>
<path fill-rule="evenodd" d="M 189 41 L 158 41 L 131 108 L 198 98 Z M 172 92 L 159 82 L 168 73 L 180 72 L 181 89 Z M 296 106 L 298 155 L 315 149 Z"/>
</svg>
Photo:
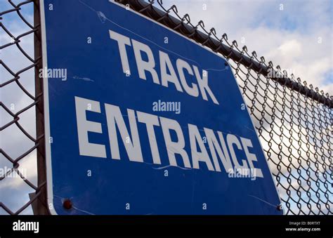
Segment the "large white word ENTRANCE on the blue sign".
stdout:
<svg viewBox="0 0 333 238">
<path fill-rule="evenodd" d="M 102 131 L 102 125 L 96 121 L 86 119 L 87 105 L 89 111 L 100 113 L 100 103 L 96 100 L 75 97 L 75 107 L 77 115 L 77 132 L 79 138 L 79 154 L 89 157 L 107 158 L 105 145 L 89 143 L 88 132 L 106 133 Z M 249 152 L 252 148 L 252 141 L 247 138 L 238 137 L 232 133 L 223 135 L 221 131 L 213 131 L 210 128 L 203 128 L 204 137 L 209 145 L 209 152 L 204 145 L 204 140 L 200 130 L 196 125 L 187 124 L 185 132 L 178 121 L 165 117 L 157 117 L 154 114 L 126 109 L 128 123 L 124 121 L 122 111 L 117 105 L 104 104 L 107 133 L 109 135 L 110 150 L 112 159 L 121 159 L 125 154 L 119 152 L 119 142 L 123 143 L 126 155 L 130 161 L 144 162 L 144 154 L 141 151 L 141 139 L 139 136 L 138 123 L 145 124 L 152 154 L 153 164 L 162 164 L 159 154 L 159 146 L 155 136 L 155 129 L 162 130 L 164 143 L 169 159 L 169 165 L 178 166 L 182 164 L 185 168 L 207 168 L 209 171 L 221 172 L 221 165 L 226 173 L 230 173 L 234 168 L 246 171 L 249 168 L 255 171 L 256 177 L 263 178 L 260 168 L 255 168 L 254 162 L 257 161 L 256 154 Z M 129 130 L 126 126 L 129 124 Z M 120 138 L 117 136 L 117 130 Z M 171 139 L 171 131 L 176 133 L 177 140 Z M 188 133 L 189 141 L 185 141 L 184 133 Z M 190 152 L 185 150 L 185 145 L 190 143 Z M 159 144 L 160 145 L 160 144 Z M 198 146 L 197 146 L 198 145 Z M 242 152 L 242 158 L 236 156 L 235 150 Z M 177 161 L 176 154 L 181 157 L 181 163 Z M 240 154 L 240 153 L 237 153 Z M 178 160 L 179 158 L 178 157 Z"/>
</svg>

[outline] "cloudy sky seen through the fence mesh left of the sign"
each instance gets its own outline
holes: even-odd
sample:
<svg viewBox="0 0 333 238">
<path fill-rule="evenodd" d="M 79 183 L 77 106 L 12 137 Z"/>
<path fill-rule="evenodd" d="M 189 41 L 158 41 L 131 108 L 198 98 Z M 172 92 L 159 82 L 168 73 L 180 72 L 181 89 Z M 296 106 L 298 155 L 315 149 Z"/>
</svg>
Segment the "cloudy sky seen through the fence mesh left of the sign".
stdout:
<svg viewBox="0 0 333 238">
<path fill-rule="evenodd" d="M 6 1 L 6 3 L 8 3 Z M 4 4 L 4 3 L 1 3 Z M 32 6 L 33 4 L 27 4 L 22 6 L 23 9 L 27 9 L 27 6 Z M 9 6 L 7 8 L 10 8 Z M 26 15 L 25 18 L 29 22 L 33 22 L 32 15 Z M 16 13 L 8 13 L 4 15 L 3 19 L 4 26 L 15 36 L 18 37 L 24 32 L 30 31 L 30 27 L 27 27 L 25 23 L 18 18 Z M 11 37 L 6 34 L 2 29 L 0 29 L 0 45 L 8 44 L 11 42 Z M 33 58 L 34 55 L 34 41 L 33 34 L 20 38 L 20 46 L 31 55 Z M 1 60 L 4 60 L 4 63 L 13 70 L 13 72 L 18 72 L 23 68 L 31 65 L 32 62 L 27 60 L 24 55 L 18 50 L 16 46 L 9 46 L 4 49 L 1 49 Z M 4 67 L 0 66 L 0 83 L 3 84 L 9 79 L 13 79 L 13 76 L 9 74 Z M 34 69 L 29 70 L 20 74 L 20 83 L 24 86 L 27 91 L 34 95 Z M 29 98 L 23 91 L 18 87 L 15 82 L 8 84 L 0 89 L 0 100 L 2 103 L 12 109 L 13 113 L 16 113 L 22 108 L 33 103 L 33 100 Z M 20 114 L 20 120 L 18 121 L 28 133 L 32 136 L 35 136 L 35 119 L 34 119 L 34 107 L 30 110 Z M 8 116 L 8 113 L 4 110 L 0 110 L 1 117 L 1 126 L 8 123 L 8 121 L 13 120 L 12 117 Z M 15 126 L 15 124 L 1 131 L 1 141 L 0 147 L 3 149 L 9 156 L 13 159 L 16 159 L 23 152 L 29 150 L 34 143 L 27 138 L 20 129 Z M 27 179 L 30 180 L 34 185 L 37 184 L 37 159 L 36 152 L 28 154 L 26 157 L 19 161 L 19 170 L 27 176 Z M 0 156 L 0 168 L 5 167 L 11 168 L 12 164 L 1 154 Z M 6 206 L 12 211 L 18 211 L 27 201 L 29 201 L 28 194 L 34 192 L 34 190 L 25 183 L 22 178 L 18 176 L 9 176 L 9 178 L 4 178 L 0 181 L 0 201 L 4 202 Z M 28 207 L 23 211 L 23 213 L 32 213 L 31 207 Z M 6 214 L 6 212 L 0 209 L 0 214 Z"/>
</svg>

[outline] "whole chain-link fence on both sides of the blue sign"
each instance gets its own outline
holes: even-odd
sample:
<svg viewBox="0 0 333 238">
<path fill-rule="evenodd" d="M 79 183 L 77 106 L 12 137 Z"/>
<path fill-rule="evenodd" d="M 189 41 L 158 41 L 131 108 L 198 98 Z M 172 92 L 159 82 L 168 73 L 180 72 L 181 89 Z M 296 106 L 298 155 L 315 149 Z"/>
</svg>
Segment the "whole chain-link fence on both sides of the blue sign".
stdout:
<svg viewBox="0 0 333 238">
<path fill-rule="evenodd" d="M 178 15 L 176 6 L 166 8 L 162 1 L 117 2 L 227 58 L 259 133 L 285 214 L 333 214 L 332 97 L 295 79 L 294 75 L 288 76 L 279 66 L 273 67 L 273 62 L 266 63 L 255 51 L 249 53 L 246 46 L 238 48 L 237 42 L 230 42 L 227 34 L 217 37 L 214 28 L 205 29 L 204 22 L 192 24 L 188 14 Z M 22 14 L 27 6 L 34 8 L 34 17 L 30 19 Z M 39 1 L 14 4 L 8 0 L 0 7 L 0 131 L 6 135 L 1 135 L 0 166 L 8 165 L 0 174 L 0 214 L 32 213 L 31 208 L 34 213 L 46 214 L 42 81 L 38 77 L 41 69 Z M 14 18 L 25 25 L 24 32 L 8 28 L 6 19 Z M 25 39 L 32 47 L 30 53 L 21 46 Z M 11 52 L 9 58 L 4 57 L 5 51 Z M 20 60 L 25 64 L 11 66 L 11 62 Z M 15 90 L 11 88 L 13 85 Z M 18 99 L 16 106 L 13 102 Z M 30 114 L 24 117 L 27 112 Z M 20 171 L 24 161 L 27 168 L 34 165 L 30 168 L 30 177 Z M 13 174 L 20 181 L 6 185 L 6 180 L 13 180 Z M 21 189 L 22 184 L 28 189 Z M 12 194 L 15 186 L 19 191 Z M 22 197 L 24 204 L 20 204 L 22 199 L 20 203 L 17 201 Z"/>
</svg>

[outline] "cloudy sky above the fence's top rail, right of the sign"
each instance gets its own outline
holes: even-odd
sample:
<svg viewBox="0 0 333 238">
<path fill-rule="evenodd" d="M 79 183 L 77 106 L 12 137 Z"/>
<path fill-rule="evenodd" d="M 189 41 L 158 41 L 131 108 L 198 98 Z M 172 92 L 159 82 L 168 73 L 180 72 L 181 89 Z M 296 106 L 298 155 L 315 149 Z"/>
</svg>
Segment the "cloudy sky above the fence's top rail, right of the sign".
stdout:
<svg viewBox="0 0 333 238">
<path fill-rule="evenodd" d="M 180 15 L 189 13 L 195 25 L 203 20 L 206 28 L 224 32 L 228 40 L 247 45 L 249 52 L 263 55 L 282 69 L 294 72 L 301 81 L 325 89 L 333 95 L 332 4 L 329 0 L 221 0 L 164 1 L 176 4 Z M 207 10 L 202 5 L 207 5 Z M 284 10 L 280 11 L 280 4 Z M 243 38 L 244 37 L 244 38 Z M 320 43 L 319 38 L 321 39 Z M 244 39 L 244 44 L 242 44 Z"/>
</svg>

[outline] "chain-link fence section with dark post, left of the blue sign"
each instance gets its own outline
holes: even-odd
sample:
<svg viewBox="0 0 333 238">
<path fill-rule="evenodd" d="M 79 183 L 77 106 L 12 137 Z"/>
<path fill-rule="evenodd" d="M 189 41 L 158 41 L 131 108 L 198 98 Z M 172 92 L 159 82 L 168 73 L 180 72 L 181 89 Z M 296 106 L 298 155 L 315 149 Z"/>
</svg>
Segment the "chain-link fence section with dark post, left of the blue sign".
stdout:
<svg viewBox="0 0 333 238">
<path fill-rule="evenodd" d="M 43 108 L 38 6 L 0 2 L 0 214 L 31 214 L 32 206 L 46 213 L 45 171 L 39 166 L 44 134 L 36 119 Z"/>
</svg>

